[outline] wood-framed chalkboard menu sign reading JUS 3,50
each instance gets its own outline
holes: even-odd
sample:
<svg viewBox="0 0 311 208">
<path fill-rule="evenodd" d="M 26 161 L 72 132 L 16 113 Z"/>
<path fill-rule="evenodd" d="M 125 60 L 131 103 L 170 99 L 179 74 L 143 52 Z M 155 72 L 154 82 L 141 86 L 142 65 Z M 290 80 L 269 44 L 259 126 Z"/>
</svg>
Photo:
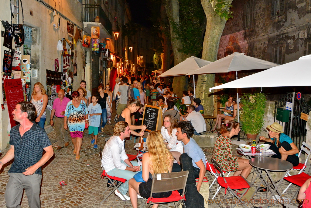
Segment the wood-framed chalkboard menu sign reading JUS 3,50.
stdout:
<svg viewBox="0 0 311 208">
<path fill-rule="evenodd" d="M 146 125 L 146 131 L 161 131 L 162 108 L 152 105 L 145 105 L 142 125 Z"/>
</svg>

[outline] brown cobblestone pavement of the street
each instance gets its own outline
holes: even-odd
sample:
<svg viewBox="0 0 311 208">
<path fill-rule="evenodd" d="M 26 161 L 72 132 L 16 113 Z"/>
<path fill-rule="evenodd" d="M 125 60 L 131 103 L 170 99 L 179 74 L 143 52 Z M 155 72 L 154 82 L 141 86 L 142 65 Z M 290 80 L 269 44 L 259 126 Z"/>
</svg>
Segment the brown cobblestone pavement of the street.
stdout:
<svg viewBox="0 0 311 208">
<path fill-rule="evenodd" d="M 114 114 L 112 118 L 114 118 Z M 112 119 L 113 120 L 113 119 Z M 104 133 L 98 139 L 98 149 L 93 149 L 91 144 L 91 137 L 85 131 L 82 148 L 81 148 L 81 158 L 80 160 L 75 160 L 75 155 L 73 152 L 73 144 L 69 141 L 69 146 L 61 150 L 57 150 L 57 140 L 55 138 L 55 131 L 53 130 L 48 134 L 52 146 L 54 148 L 54 156 L 43 166 L 43 180 L 41 188 L 41 206 L 42 208 L 61 208 L 61 207 L 83 207 L 83 208 L 93 208 L 93 207 L 107 207 L 107 208 L 128 208 L 132 207 L 130 203 L 120 200 L 119 197 L 111 194 L 103 204 L 100 204 L 103 199 L 103 191 L 106 189 L 107 179 L 101 179 L 102 168 L 100 166 L 99 151 L 100 148 L 104 147 L 104 138 L 111 137 L 114 128 L 114 122 L 112 124 L 107 124 L 104 128 Z M 70 136 L 68 136 L 70 138 Z M 136 154 L 137 152 L 132 149 L 134 146 L 134 138 L 132 140 L 127 140 L 126 152 L 129 154 Z M 234 149 L 237 146 L 234 146 Z M 213 148 L 202 148 L 206 157 L 211 158 Z M 3 155 L 7 152 L 7 149 L 3 150 L 1 153 Z M 234 151 L 236 153 L 236 151 Z M 236 153 L 237 154 L 237 153 Z M 1 157 L 3 157 L 3 155 Z M 0 157 L 0 158 L 1 158 Z M 11 166 L 11 163 L 5 164 L 4 168 L 0 171 L 0 207 L 5 207 L 4 192 L 6 189 L 6 184 L 8 182 L 7 172 Z M 206 173 L 210 183 L 213 181 L 213 177 L 209 172 Z M 59 182 L 65 181 L 66 186 L 60 186 Z M 287 182 L 282 182 L 282 189 L 288 185 Z M 211 191 L 215 193 L 217 186 L 213 186 Z M 290 190 L 286 192 L 286 196 L 289 198 L 293 196 L 296 192 L 297 187 L 291 186 Z M 217 200 L 223 199 L 224 189 L 220 189 L 219 194 L 215 197 L 216 201 L 209 203 L 210 207 L 225 207 L 231 206 L 230 204 L 220 203 L 216 205 Z M 209 199 L 212 198 L 211 192 Z M 258 192 L 253 199 L 265 199 L 265 194 Z M 207 200 L 206 200 L 207 201 Z M 139 207 L 141 205 L 140 200 L 138 200 Z M 260 204 L 256 206 L 262 206 Z M 273 207 L 281 207 L 279 204 L 273 204 Z M 26 194 L 22 198 L 21 207 L 28 207 L 28 201 Z M 162 204 L 160 207 L 173 207 L 171 204 Z M 238 204 L 238 207 L 244 207 Z M 250 206 L 252 207 L 252 206 Z"/>
</svg>

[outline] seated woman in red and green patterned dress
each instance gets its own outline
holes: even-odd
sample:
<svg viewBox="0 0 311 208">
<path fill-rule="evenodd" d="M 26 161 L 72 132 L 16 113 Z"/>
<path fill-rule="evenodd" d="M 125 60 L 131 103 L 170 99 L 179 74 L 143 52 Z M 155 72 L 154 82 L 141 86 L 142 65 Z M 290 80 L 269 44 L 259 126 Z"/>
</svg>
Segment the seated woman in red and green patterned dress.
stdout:
<svg viewBox="0 0 311 208">
<path fill-rule="evenodd" d="M 240 131 L 239 123 L 229 121 L 221 126 L 221 135 L 217 138 L 212 159 L 218 162 L 221 168 L 226 171 L 234 171 L 233 176 L 243 176 L 247 178 L 252 170 L 252 166 L 247 159 L 236 157 L 232 154 L 232 143 L 230 138 L 238 135 Z"/>
</svg>

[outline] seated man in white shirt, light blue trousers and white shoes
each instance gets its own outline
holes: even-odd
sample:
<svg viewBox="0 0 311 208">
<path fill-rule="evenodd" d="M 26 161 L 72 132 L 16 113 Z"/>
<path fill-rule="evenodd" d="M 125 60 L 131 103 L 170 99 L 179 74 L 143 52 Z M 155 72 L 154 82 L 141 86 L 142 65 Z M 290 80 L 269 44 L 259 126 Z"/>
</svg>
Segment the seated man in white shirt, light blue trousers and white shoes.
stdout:
<svg viewBox="0 0 311 208">
<path fill-rule="evenodd" d="M 131 130 L 127 122 L 118 122 L 114 126 L 114 136 L 110 137 L 105 144 L 101 157 L 101 167 L 109 176 L 127 180 L 118 188 L 127 200 L 130 200 L 130 197 L 126 196 L 128 192 L 128 180 L 133 178 L 137 172 L 141 171 L 138 163 L 130 161 L 124 150 L 124 139 L 128 138 L 130 133 Z M 125 201 L 117 189 L 114 193 Z"/>
</svg>

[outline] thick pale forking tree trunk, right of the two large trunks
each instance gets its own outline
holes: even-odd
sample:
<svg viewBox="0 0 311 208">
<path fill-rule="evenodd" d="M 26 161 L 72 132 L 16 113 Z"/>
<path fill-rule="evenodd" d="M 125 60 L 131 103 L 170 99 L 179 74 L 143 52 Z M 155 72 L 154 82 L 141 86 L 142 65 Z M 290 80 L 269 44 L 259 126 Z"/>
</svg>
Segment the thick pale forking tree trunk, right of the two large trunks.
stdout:
<svg viewBox="0 0 311 208">
<path fill-rule="evenodd" d="M 216 61 L 218 54 L 218 47 L 222 32 L 225 28 L 225 18 L 215 16 L 215 11 L 208 2 L 209 0 L 201 0 L 202 7 L 206 15 L 206 31 L 203 42 L 202 59 L 209 61 Z M 232 2 L 232 0 L 228 0 Z M 204 107 L 204 114 L 212 115 L 214 110 L 213 92 L 209 92 L 209 88 L 214 87 L 215 74 L 199 75 L 196 86 L 196 97 L 202 100 Z"/>
</svg>

